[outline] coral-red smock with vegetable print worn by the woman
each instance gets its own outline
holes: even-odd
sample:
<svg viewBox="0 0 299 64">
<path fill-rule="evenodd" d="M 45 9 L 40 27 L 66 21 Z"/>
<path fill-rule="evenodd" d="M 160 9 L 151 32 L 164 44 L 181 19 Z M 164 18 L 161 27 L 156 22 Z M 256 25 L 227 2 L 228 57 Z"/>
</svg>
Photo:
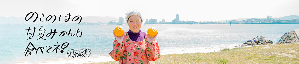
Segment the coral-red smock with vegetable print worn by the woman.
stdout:
<svg viewBox="0 0 299 64">
<path fill-rule="evenodd" d="M 113 50 L 109 53 L 111 58 L 119 61 L 119 64 L 149 64 L 160 58 L 158 42 L 147 42 L 147 34 L 143 41 L 135 42 L 129 38 L 127 32 L 123 44 L 113 41 Z"/>
</svg>

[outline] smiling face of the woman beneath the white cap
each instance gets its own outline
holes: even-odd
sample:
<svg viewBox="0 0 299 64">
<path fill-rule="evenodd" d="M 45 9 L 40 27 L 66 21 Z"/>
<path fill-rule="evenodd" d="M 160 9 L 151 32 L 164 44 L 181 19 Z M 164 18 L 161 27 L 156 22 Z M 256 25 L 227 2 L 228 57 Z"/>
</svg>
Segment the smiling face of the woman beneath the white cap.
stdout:
<svg viewBox="0 0 299 64">
<path fill-rule="evenodd" d="M 139 32 L 139 29 L 141 28 L 141 23 L 141 18 L 138 15 L 132 15 L 131 17 L 129 17 L 128 25 L 132 32 Z"/>
</svg>

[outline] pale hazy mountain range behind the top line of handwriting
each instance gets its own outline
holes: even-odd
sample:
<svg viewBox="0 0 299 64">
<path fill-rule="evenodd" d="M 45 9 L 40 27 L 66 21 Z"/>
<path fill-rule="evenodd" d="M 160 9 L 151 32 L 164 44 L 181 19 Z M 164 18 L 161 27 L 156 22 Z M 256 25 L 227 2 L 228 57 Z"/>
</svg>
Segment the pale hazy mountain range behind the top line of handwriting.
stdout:
<svg viewBox="0 0 299 64">
<path fill-rule="evenodd" d="M 35 17 L 33 17 L 35 19 Z M 56 17 L 56 20 L 54 23 L 52 23 L 53 19 L 51 19 L 50 21 L 46 22 L 45 18 L 46 17 L 41 17 L 42 21 L 44 22 L 40 22 L 39 18 L 36 19 L 36 21 L 34 23 L 33 22 L 33 18 L 31 18 L 30 20 L 26 21 L 24 17 L 0 17 L 0 24 L 61 24 L 61 23 L 78 23 L 79 21 L 75 21 L 73 22 L 72 19 L 74 17 L 71 17 L 71 19 L 69 19 L 68 22 L 65 22 L 64 20 L 67 19 L 67 17 L 61 16 L 60 21 L 59 21 L 59 16 Z M 97 23 L 97 22 L 101 22 L 101 23 L 108 23 L 112 20 L 116 20 L 119 21 L 119 18 L 115 18 L 115 17 L 99 17 L 99 16 L 87 16 L 87 17 L 82 17 L 82 22 L 89 22 L 89 23 Z"/>
</svg>

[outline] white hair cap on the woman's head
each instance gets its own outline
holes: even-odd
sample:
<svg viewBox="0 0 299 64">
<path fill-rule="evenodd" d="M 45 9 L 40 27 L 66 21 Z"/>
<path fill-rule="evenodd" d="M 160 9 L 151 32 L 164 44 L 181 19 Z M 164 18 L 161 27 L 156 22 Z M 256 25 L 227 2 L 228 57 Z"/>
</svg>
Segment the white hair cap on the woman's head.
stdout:
<svg viewBox="0 0 299 64">
<path fill-rule="evenodd" d="M 142 15 L 140 14 L 140 12 L 138 12 L 138 11 L 136 11 L 136 10 L 128 11 L 128 12 L 126 13 L 125 18 L 126 18 L 126 21 L 127 21 L 127 22 L 128 22 L 129 17 L 131 17 L 132 15 L 137 15 L 137 16 L 139 16 L 139 17 L 141 18 L 141 22 L 142 22 L 141 26 L 144 25 L 145 22 L 143 22 Z"/>
</svg>

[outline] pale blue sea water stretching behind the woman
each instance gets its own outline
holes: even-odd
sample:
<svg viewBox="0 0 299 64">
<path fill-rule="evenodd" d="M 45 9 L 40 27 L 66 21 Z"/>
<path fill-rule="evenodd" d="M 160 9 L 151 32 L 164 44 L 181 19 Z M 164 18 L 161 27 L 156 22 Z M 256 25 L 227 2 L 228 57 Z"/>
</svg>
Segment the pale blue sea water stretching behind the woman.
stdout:
<svg viewBox="0 0 299 64">
<path fill-rule="evenodd" d="M 45 29 L 44 39 L 36 37 L 39 28 Z M 0 25 L 0 61 L 1 63 L 14 63 L 17 60 L 39 61 L 45 59 L 68 58 L 67 51 L 82 48 L 90 49 L 89 57 L 107 56 L 112 50 L 114 41 L 113 29 L 116 26 L 129 30 L 128 25 Z M 26 39 L 27 30 L 36 28 L 34 37 Z M 225 47 L 241 45 L 257 36 L 264 36 L 266 40 L 278 42 L 281 35 L 294 29 L 299 29 L 299 24 L 145 24 L 141 31 L 147 32 L 149 27 L 158 29 L 156 40 L 159 43 L 161 53 L 177 50 L 191 50 L 205 47 Z M 50 29 L 56 29 L 52 39 L 45 37 Z M 81 37 L 67 36 L 59 37 L 60 32 L 71 30 L 72 35 L 76 30 L 82 31 Z M 29 33 L 32 33 L 30 30 Z M 45 47 L 44 52 L 37 52 L 36 55 L 25 56 L 24 52 L 29 44 L 35 47 Z M 59 42 L 57 44 L 57 42 Z M 55 48 L 54 45 L 62 45 L 68 42 L 69 45 L 64 52 L 45 52 L 48 47 Z M 61 48 L 60 48 L 61 49 Z M 51 49 L 53 50 L 53 49 Z M 35 52 L 32 52 L 33 54 Z M 79 58 L 79 57 L 77 57 Z"/>
</svg>

